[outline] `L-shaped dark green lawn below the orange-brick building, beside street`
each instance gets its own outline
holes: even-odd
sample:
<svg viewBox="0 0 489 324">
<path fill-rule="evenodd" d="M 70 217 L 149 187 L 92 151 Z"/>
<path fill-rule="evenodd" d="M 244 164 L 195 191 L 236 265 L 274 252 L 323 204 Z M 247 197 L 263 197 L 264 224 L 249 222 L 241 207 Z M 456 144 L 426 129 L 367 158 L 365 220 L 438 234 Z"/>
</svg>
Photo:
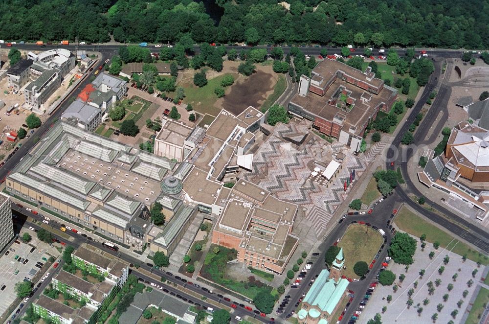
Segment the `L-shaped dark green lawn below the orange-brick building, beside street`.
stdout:
<svg viewBox="0 0 489 324">
<path fill-rule="evenodd" d="M 205 261 L 200 269 L 200 275 L 208 280 L 214 281 L 215 283 L 222 285 L 230 290 L 236 291 L 250 299 L 254 299 L 255 296 L 262 291 L 271 293 L 272 287 L 265 283 L 261 283 L 261 287 L 253 284 L 251 285 L 248 280 L 246 281 L 236 281 L 227 275 L 226 265 L 227 262 L 236 258 L 236 251 L 232 251 L 225 247 L 219 246 L 219 253 L 214 254 L 214 247 L 217 245 L 212 244 L 209 252 L 205 256 Z M 258 282 L 256 280 L 255 282 Z"/>
</svg>

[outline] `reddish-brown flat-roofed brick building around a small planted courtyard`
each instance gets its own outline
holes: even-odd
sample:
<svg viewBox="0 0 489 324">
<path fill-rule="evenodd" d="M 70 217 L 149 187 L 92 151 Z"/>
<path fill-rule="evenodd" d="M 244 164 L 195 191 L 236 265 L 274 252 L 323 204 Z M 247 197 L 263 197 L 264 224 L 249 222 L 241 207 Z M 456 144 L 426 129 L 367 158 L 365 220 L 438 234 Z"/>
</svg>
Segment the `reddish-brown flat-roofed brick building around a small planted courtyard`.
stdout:
<svg viewBox="0 0 489 324">
<path fill-rule="evenodd" d="M 325 59 L 312 70 L 311 78 L 301 76 L 288 110 L 358 151 L 368 124 L 379 111 L 388 113 L 396 98 L 397 90 L 376 78 L 370 67 L 362 72 Z"/>
</svg>

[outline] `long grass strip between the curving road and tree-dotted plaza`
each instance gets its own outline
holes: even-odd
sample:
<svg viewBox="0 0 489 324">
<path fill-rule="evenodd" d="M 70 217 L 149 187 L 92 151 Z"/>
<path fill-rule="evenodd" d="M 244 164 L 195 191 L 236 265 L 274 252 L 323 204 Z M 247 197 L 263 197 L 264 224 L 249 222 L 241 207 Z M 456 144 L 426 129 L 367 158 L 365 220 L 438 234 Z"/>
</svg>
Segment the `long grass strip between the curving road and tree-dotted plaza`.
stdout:
<svg viewBox="0 0 489 324">
<path fill-rule="evenodd" d="M 401 208 L 398 211 L 396 218 L 394 218 L 394 222 L 401 231 L 408 232 L 417 237 L 426 234 L 426 241 L 430 243 L 439 242 L 440 248 L 447 248 L 447 250 L 451 250 L 458 255 L 467 254 L 467 258 L 472 261 L 480 262 L 484 265 L 489 264 L 487 255 L 472 250 L 464 242 L 455 239 L 447 232 L 423 220 L 408 208 Z"/>
</svg>

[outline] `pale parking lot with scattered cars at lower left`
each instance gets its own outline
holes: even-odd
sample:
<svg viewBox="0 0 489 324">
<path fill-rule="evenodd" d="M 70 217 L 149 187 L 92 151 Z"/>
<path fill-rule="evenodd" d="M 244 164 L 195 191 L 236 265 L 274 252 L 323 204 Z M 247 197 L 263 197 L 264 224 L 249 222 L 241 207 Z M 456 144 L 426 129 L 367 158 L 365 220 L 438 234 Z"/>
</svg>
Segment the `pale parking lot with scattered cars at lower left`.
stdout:
<svg viewBox="0 0 489 324">
<path fill-rule="evenodd" d="M 8 250 L 7 255 L 4 254 L 0 257 L 0 287 L 5 285 L 3 291 L 0 292 L 0 314 L 3 313 L 16 299 L 16 294 L 14 292 L 16 282 L 22 281 L 25 277 L 32 279 L 39 271 L 44 274 L 47 270 L 46 265 L 41 269 L 37 268 L 35 266 L 36 262 L 40 261 L 45 264 L 49 256 L 52 255 L 58 258 L 60 255 L 56 248 L 50 247 L 46 243 L 39 242 L 34 231 L 23 228 L 20 235 L 22 236 L 26 231 L 32 236 L 32 240 L 28 244 L 25 244 L 18 239 L 17 242 L 19 243 L 13 243 L 10 246 L 10 249 L 14 251 Z M 35 248 L 35 250 L 30 252 L 32 248 Z M 17 261 L 15 258 L 17 255 L 17 260 L 23 258 L 27 259 L 28 262 L 23 264 L 23 262 Z M 40 279 L 41 276 L 38 276 L 38 278 Z"/>
</svg>

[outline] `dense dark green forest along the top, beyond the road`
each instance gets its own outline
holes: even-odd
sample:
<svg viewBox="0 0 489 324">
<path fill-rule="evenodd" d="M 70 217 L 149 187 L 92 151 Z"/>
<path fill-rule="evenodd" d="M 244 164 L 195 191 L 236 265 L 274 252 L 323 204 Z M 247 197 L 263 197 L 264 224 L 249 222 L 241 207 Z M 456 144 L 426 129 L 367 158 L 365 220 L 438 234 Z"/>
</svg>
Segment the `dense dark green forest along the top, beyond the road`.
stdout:
<svg viewBox="0 0 489 324">
<path fill-rule="evenodd" d="M 192 0 L 2 0 L 0 39 L 174 43 L 188 33 L 197 43 L 489 47 L 489 0 L 216 4 L 222 16 Z"/>
</svg>

